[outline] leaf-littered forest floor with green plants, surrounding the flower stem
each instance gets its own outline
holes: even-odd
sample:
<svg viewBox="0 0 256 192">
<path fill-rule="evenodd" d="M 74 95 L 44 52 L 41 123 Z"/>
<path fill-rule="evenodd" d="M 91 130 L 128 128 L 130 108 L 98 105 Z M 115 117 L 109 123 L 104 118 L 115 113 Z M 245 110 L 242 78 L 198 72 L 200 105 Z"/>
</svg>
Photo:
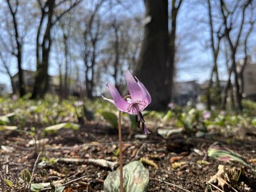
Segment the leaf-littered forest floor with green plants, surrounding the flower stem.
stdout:
<svg viewBox="0 0 256 192">
<path fill-rule="evenodd" d="M 256 191 L 256 103 L 243 104 L 242 113 L 190 106 L 143 111 L 152 132 L 144 139 L 134 116 L 123 114 L 123 164 L 141 160 L 150 174 L 148 192 Z M 101 99 L 0 98 L 0 191 L 30 191 L 32 186 L 37 187 L 33 191 L 55 191 L 60 185 L 57 192 L 103 191 L 106 176 L 119 167 L 116 113 Z M 177 128 L 182 132 L 159 135 L 161 129 Z M 238 163 L 239 156 L 232 157 L 237 161 L 209 157 L 216 141 L 242 155 L 251 168 Z M 225 174 L 215 176 L 219 165 L 225 165 Z M 214 176 L 217 182 L 209 184 Z"/>
</svg>

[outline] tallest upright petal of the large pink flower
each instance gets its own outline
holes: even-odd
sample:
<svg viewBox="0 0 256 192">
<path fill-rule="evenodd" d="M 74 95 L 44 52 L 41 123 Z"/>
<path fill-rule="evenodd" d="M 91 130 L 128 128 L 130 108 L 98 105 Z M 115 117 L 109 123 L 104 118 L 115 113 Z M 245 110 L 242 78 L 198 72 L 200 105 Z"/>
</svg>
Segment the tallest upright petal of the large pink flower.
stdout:
<svg viewBox="0 0 256 192">
<path fill-rule="evenodd" d="M 138 85 L 130 71 L 126 70 L 125 78 L 127 82 L 127 87 L 132 98 L 132 102 L 143 101 L 145 99 L 145 93 L 142 92 L 140 86 Z"/>
</svg>

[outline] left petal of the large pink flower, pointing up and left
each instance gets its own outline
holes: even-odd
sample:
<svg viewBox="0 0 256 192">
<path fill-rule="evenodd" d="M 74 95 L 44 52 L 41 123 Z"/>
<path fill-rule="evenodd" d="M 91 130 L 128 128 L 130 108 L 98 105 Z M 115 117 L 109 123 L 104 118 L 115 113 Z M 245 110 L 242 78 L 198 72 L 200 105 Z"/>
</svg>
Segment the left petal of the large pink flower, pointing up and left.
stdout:
<svg viewBox="0 0 256 192">
<path fill-rule="evenodd" d="M 109 102 L 113 103 L 120 111 L 122 112 L 128 112 L 128 108 L 131 105 L 130 103 L 126 102 L 121 95 L 119 94 L 119 92 L 117 91 L 117 89 L 112 86 L 112 84 L 110 83 L 106 83 L 106 87 L 109 89 L 110 94 L 113 98 L 112 99 L 107 99 L 105 97 L 102 96 L 103 99 L 108 100 Z"/>
</svg>

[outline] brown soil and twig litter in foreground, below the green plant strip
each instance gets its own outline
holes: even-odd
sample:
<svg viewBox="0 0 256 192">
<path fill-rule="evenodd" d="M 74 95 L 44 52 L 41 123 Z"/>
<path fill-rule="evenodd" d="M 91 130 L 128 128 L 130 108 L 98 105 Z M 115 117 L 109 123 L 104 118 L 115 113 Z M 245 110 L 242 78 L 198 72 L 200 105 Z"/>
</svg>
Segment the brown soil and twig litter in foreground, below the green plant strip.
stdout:
<svg viewBox="0 0 256 192">
<path fill-rule="evenodd" d="M 125 130 L 123 128 L 124 164 L 129 163 L 139 150 L 136 159 L 145 157 L 157 165 L 155 167 L 144 165 L 150 172 L 150 184 L 147 191 L 184 191 L 172 184 L 188 191 L 207 191 L 207 181 L 217 173 L 219 164 L 241 167 L 238 163 L 220 162 L 207 157 L 207 148 L 214 141 L 222 142 L 224 146 L 241 154 L 247 160 L 256 158 L 256 136 L 253 134 L 247 135 L 244 140 L 237 140 L 230 135 L 228 138 L 218 136 L 211 139 L 175 136 L 165 140 L 156 133 L 150 134 L 147 139 L 135 139 L 134 137 L 134 139 L 128 139 L 129 132 Z M 89 123 L 80 127 L 79 132 L 63 129 L 58 134 L 48 136 L 44 145 L 38 144 L 37 147 L 48 160 L 51 159 L 52 163 L 36 166 L 33 183 L 50 181 L 67 183 L 83 177 L 65 185 L 66 188 L 63 191 L 102 191 L 104 179 L 111 172 L 111 168 L 86 161 L 72 162 L 72 160 L 90 158 L 116 161 L 118 158 L 118 155 L 115 155 L 118 148 L 117 135 L 117 133 L 110 133 L 100 124 Z M 32 173 L 34 168 L 37 155 L 35 147 L 29 144 L 32 137 L 7 131 L 1 135 L 1 139 L 5 147 L 2 147 L 0 151 L 0 164 L 1 166 L 8 164 L 6 179 L 15 183 L 19 180 L 22 170 L 28 169 Z M 58 161 L 55 162 L 57 159 Z M 199 163 L 199 160 L 205 160 L 208 163 Z M 182 162 L 178 168 L 172 166 L 175 161 Z M 40 162 L 41 160 L 37 163 L 40 164 Z M 251 165 L 255 167 L 256 162 L 252 162 Z M 49 175 L 42 177 L 42 169 L 47 170 Z M 213 186 L 210 187 L 212 190 L 208 191 L 219 191 Z M 256 191 L 255 177 L 244 168 L 240 182 L 232 187 L 234 189 L 227 187 L 223 191 Z M 5 190 L 14 189 L 5 188 Z"/>
</svg>

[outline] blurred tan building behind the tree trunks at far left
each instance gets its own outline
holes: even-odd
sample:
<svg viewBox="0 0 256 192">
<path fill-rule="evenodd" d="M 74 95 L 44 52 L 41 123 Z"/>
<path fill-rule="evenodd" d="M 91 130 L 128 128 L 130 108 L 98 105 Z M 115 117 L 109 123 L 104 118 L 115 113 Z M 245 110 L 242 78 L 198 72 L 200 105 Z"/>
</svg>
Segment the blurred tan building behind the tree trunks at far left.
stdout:
<svg viewBox="0 0 256 192">
<path fill-rule="evenodd" d="M 34 71 L 30 70 L 23 70 L 24 71 L 24 84 L 28 92 L 32 92 L 35 83 L 35 73 Z M 19 79 L 18 73 L 13 76 L 13 82 L 15 90 L 18 90 L 19 87 Z M 59 76 L 51 76 L 49 75 L 49 89 L 48 92 L 50 94 L 59 94 L 60 93 L 60 79 Z M 70 79 L 70 93 L 69 95 L 77 95 L 79 93 L 79 87 L 76 85 L 76 81 L 74 79 Z M 64 93 L 67 94 L 67 93 Z"/>
</svg>

